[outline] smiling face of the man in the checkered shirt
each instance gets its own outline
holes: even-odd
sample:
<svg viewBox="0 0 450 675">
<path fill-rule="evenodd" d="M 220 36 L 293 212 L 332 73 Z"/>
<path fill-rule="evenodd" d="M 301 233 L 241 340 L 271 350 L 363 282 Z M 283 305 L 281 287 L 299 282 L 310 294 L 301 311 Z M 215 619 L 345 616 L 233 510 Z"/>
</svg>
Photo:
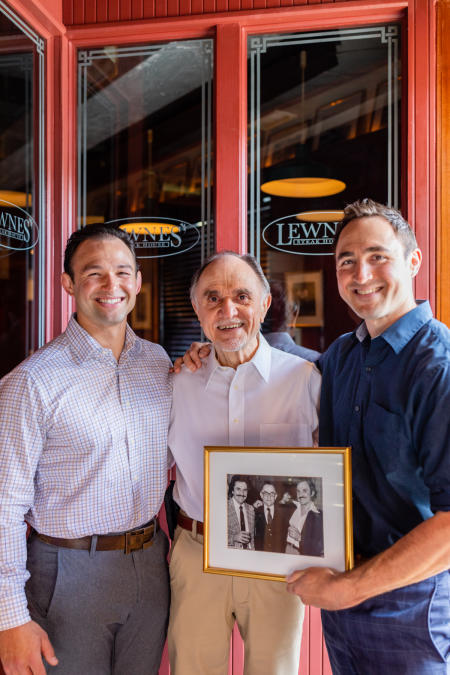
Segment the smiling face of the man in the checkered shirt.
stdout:
<svg viewBox="0 0 450 675">
<path fill-rule="evenodd" d="M 64 273 L 64 289 L 75 299 L 77 321 L 95 336 L 115 326 L 125 328 L 141 288 L 131 251 L 117 237 L 86 239 L 72 258 L 73 279 Z"/>
</svg>

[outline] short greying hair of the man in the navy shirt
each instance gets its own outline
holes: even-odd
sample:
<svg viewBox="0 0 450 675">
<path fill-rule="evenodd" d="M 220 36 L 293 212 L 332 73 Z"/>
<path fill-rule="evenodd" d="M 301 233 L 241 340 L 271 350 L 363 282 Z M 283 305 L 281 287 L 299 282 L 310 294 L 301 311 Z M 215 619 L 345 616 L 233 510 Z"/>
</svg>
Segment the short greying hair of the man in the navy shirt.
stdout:
<svg viewBox="0 0 450 675">
<path fill-rule="evenodd" d="M 352 220 L 355 220 L 356 218 L 371 218 L 373 216 L 378 216 L 387 220 L 403 245 L 405 258 L 417 248 L 416 236 L 400 211 L 366 197 L 365 199 L 358 199 L 352 204 L 347 204 L 345 207 L 344 217 L 336 228 L 334 250 L 336 251 L 342 230 L 351 223 Z"/>
</svg>

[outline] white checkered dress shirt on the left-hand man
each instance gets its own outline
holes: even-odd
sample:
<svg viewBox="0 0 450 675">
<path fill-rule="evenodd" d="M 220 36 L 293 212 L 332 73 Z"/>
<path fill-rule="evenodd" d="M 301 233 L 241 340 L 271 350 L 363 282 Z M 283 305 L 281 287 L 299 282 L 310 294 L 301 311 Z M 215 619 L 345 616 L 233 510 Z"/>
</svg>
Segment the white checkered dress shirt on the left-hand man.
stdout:
<svg viewBox="0 0 450 675">
<path fill-rule="evenodd" d="M 0 630 L 30 618 L 24 518 L 40 533 L 77 538 L 158 513 L 170 365 L 129 326 L 117 362 L 72 317 L 0 382 Z"/>
</svg>

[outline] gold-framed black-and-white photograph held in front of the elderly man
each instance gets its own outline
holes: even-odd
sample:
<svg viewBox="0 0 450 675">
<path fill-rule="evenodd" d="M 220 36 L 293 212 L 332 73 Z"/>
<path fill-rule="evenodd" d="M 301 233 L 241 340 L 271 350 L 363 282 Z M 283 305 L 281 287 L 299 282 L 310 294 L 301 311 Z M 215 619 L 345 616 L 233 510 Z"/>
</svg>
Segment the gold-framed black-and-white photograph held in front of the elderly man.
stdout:
<svg viewBox="0 0 450 675">
<path fill-rule="evenodd" d="M 203 569 L 353 567 L 350 448 L 205 447 Z"/>
</svg>

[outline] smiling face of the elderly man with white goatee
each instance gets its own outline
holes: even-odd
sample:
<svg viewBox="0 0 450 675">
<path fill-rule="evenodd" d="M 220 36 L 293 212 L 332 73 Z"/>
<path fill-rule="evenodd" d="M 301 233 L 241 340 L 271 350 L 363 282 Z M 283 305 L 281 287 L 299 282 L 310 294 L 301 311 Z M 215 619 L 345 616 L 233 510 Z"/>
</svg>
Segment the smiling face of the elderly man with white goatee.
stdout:
<svg viewBox="0 0 450 675">
<path fill-rule="evenodd" d="M 231 255 L 214 260 L 201 275 L 192 304 L 222 365 L 250 360 L 270 295 L 246 262 Z"/>
</svg>

